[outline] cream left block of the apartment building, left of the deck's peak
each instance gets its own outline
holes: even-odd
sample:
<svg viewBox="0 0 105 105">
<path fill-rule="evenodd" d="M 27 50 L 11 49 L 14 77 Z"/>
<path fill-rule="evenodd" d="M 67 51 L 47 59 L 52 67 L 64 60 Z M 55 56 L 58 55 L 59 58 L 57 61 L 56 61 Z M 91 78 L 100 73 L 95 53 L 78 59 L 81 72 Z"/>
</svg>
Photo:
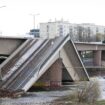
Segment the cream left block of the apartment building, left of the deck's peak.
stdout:
<svg viewBox="0 0 105 105">
<path fill-rule="evenodd" d="M 54 38 L 69 33 L 69 23 L 64 21 L 40 23 L 40 37 Z"/>
</svg>

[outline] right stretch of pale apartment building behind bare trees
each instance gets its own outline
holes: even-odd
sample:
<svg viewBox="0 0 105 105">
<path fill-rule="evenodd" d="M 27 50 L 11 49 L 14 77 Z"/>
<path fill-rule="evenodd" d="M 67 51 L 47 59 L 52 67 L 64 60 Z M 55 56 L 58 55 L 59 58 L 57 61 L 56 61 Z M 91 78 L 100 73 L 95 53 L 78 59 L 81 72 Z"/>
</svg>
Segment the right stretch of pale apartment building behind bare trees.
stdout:
<svg viewBox="0 0 105 105">
<path fill-rule="evenodd" d="M 70 24 L 69 28 L 74 41 L 102 41 L 105 39 L 105 26 L 83 23 Z"/>
</svg>

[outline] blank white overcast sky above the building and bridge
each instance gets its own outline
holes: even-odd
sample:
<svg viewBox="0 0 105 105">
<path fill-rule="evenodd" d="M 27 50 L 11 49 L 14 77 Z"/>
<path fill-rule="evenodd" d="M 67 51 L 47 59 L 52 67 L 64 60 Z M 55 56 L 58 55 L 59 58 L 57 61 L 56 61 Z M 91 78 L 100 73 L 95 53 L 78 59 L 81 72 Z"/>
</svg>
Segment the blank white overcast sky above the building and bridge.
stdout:
<svg viewBox="0 0 105 105">
<path fill-rule="evenodd" d="M 24 35 L 40 22 L 61 20 L 71 23 L 105 25 L 105 0 L 0 0 L 0 32 L 3 35 Z"/>
</svg>

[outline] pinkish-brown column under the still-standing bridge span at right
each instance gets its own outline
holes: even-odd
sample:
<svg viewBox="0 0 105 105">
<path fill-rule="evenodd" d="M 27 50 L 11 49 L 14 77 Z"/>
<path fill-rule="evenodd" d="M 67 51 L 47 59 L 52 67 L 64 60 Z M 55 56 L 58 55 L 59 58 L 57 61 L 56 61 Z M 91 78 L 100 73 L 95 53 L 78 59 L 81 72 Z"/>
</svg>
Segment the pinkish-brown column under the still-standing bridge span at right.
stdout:
<svg viewBox="0 0 105 105">
<path fill-rule="evenodd" d="M 101 66 L 101 52 L 102 51 L 93 51 L 93 64 L 96 66 Z"/>
</svg>

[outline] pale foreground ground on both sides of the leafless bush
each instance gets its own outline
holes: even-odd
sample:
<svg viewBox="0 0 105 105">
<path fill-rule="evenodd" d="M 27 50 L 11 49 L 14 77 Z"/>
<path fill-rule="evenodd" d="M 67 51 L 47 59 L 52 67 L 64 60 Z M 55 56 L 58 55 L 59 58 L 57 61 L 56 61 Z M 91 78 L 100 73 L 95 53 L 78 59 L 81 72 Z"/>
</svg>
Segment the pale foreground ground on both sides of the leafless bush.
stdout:
<svg viewBox="0 0 105 105">
<path fill-rule="evenodd" d="M 101 77 L 95 79 L 99 81 L 101 89 L 101 97 L 95 105 L 105 105 L 105 100 L 103 100 L 105 99 L 105 79 Z M 76 105 L 68 96 L 78 88 L 78 85 L 81 86 L 81 84 L 82 82 L 67 85 L 60 90 L 54 91 L 27 92 L 19 98 L 1 98 L 0 105 Z M 80 103 L 80 105 L 85 105 L 85 103 Z"/>
</svg>

